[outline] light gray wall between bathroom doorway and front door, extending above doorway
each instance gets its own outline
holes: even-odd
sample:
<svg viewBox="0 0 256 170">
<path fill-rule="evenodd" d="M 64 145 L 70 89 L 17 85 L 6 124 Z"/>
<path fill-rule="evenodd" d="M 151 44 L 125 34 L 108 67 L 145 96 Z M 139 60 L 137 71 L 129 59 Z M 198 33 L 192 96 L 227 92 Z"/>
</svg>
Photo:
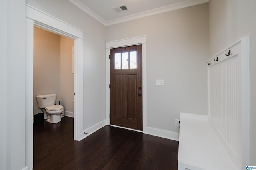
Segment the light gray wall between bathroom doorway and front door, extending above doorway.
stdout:
<svg viewBox="0 0 256 170">
<path fill-rule="evenodd" d="M 26 3 L 84 30 L 83 129 L 106 119 L 105 36 L 106 26 L 68 0 L 26 0 Z"/>
</svg>

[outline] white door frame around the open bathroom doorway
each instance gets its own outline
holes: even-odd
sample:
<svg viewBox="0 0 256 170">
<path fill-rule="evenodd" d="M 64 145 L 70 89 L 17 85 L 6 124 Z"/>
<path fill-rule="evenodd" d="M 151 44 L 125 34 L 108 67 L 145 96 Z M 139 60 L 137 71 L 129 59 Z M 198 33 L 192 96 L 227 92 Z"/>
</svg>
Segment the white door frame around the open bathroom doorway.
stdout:
<svg viewBox="0 0 256 170">
<path fill-rule="evenodd" d="M 74 140 L 83 133 L 83 31 L 26 4 L 25 128 L 26 166 L 33 168 L 33 39 L 34 26 L 74 40 Z"/>
</svg>

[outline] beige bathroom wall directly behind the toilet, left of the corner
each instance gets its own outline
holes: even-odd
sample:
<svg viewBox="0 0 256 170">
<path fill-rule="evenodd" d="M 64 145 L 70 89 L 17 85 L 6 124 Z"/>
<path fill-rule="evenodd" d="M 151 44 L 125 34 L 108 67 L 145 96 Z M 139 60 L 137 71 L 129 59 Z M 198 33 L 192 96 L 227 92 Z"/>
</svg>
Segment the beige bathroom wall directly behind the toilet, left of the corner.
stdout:
<svg viewBox="0 0 256 170">
<path fill-rule="evenodd" d="M 34 114 L 42 113 L 36 96 L 56 93 L 60 100 L 60 36 L 34 27 Z"/>
</svg>

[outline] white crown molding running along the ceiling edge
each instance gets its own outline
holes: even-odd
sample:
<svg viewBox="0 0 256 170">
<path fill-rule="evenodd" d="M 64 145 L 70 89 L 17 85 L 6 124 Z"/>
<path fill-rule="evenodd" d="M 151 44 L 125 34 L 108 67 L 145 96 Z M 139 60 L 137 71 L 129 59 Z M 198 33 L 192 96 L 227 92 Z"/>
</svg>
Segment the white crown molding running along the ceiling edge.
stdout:
<svg viewBox="0 0 256 170">
<path fill-rule="evenodd" d="M 186 8 L 186 7 L 189 7 L 189 6 L 194 6 L 194 5 L 209 2 L 209 0 L 186 0 L 186 1 L 183 1 L 183 2 L 176 3 L 176 4 L 171 4 L 171 5 L 163 6 L 163 7 L 160 7 L 160 8 L 153 9 L 153 10 L 148 10 L 148 11 L 140 12 L 140 13 L 133 14 L 133 15 L 130 15 L 130 16 L 126 16 L 126 17 L 106 21 L 103 18 L 101 18 L 100 16 L 98 16 L 98 14 L 96 14 L 95 12 L 90 10 L 90 8 L 85 6 L 79 0 L 68 0 L 68 1 L 70 1 L 72 4 L 74 4 L 75 6 L 77 6 L 78 8 L 80 8 L 81 10 L 83 10 L 84 12 L 86 12 L 87 14 L 89 14 L 90 16 L 92 16 L 94 19 L 98 20 L 100 23 L 102 23 L 105 26 L 110 26 L 110 25 L 113 25 L 113 24 L 121 23 L 121 22 L 135 20 L 135 19 L 138 19 L 138 18 L 146 17 L 146 16 L 151 16 L 151 15 L 155 15 L 155 14 L 160 14 L 160 13 L 164 13 L 164 12 L 168 12 L 168 11 L 178 10 L 178 9 L 181 9 L 181 8 Z"/>
</svg>

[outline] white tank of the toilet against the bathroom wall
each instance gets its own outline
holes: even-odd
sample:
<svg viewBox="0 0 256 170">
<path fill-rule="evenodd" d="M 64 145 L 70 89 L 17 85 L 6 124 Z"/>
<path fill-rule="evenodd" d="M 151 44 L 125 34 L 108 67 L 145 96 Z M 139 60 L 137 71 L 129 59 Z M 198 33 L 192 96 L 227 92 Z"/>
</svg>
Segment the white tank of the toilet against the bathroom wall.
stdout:
<svg viewBox="0 0 256 170">
<path fill-rule="evenodd" d="M 37 95 L 36 100 L 39 108 L 55 105 L 57 95 L 55 93 Z"/>
</svg>

